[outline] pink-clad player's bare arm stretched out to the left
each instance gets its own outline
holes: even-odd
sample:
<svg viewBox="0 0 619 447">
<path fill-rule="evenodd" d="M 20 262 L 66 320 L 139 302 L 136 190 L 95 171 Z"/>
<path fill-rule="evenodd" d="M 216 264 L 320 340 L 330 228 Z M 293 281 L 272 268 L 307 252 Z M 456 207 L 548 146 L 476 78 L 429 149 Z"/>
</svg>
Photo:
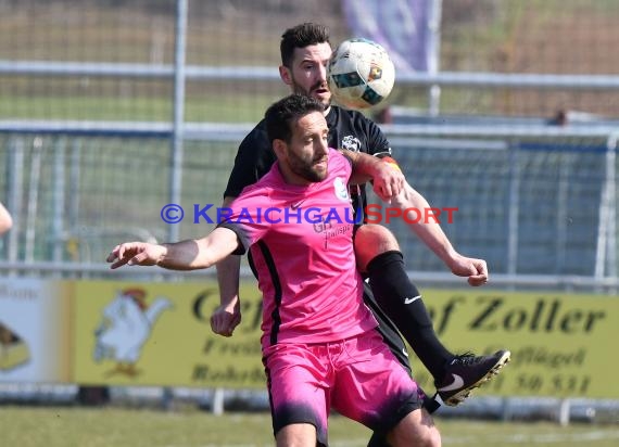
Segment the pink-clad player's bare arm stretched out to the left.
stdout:
<svg viewBox="0 0 619 447">
<path fill-rule="evenodd" d="M 112 269 L 128 265 L 195 270 L 212 267 L 237 246 L 237 234 L 232 230 L 216 228 L 206 238 L 169 244 L 125 242 L 112 250 L 108 263 L 112 263 Z"/>
</svg>

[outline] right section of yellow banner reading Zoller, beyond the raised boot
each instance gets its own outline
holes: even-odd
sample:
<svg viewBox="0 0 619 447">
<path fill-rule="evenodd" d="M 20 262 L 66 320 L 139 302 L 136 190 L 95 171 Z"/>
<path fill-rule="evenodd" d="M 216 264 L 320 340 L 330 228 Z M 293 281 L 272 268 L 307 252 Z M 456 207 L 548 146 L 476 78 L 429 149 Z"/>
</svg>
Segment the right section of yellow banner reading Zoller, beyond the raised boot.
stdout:
<svg viewBox="0 0 619 447">
<path fill-rule="evenodd" d="M 424 301 L 451 350 L 511 352 L 510 363 L 479 394 L 619 397 L 619 297 L 476 289 L 427 291 Z M 420 384 L 433 391 L 416 358 L 413 367 Z"/>
</svg>

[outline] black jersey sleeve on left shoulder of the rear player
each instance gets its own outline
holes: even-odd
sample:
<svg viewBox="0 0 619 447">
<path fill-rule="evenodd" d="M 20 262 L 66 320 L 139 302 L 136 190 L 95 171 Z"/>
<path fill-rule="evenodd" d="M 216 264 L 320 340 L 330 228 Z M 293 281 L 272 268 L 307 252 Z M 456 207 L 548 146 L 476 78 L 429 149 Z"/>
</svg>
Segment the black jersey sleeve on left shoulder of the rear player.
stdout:
<svg viewBox="0 0 619 447">
<path fill-rule="evenodd" d="M 245 187 L 255 183 L 268 173 L 274 163 L 275 154 L 270 149 L 264 122 L 261 122 L 239 145 L 224 197 L 238 197 Z"/>
</svg>

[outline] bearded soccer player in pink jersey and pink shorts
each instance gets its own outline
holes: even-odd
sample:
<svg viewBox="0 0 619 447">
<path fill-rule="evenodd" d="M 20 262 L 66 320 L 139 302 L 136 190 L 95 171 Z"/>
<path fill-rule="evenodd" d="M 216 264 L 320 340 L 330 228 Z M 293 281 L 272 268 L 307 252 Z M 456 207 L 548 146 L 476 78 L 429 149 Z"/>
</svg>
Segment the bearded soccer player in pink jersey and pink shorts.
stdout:
<svg viewBox="0 0 619 447">
<path fill-rule="evenodd" d="M 392 446 L 440 446 L 422 393 L 376 330 L 355 268 L 349 180 L 371 178 L 389 199 L 404 178 L 376 157 L 329 149 L 323 111 L 299 94 L 268 108 L 277 163 L 207 237 L 127 242 L 108 261 L 199 269 L 251 250 L 264 299 L 263 362 L 277 445 L 326 446 L 336 409 Z"/>
</svg>

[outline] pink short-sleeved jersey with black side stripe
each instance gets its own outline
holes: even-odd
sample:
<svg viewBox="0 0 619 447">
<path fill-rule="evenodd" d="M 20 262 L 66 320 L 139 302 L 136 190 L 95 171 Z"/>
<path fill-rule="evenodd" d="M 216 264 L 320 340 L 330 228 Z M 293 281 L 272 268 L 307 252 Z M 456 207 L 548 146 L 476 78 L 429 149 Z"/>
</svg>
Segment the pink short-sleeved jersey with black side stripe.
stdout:
<svg viewBox="0 0 619 447">
<path fill-rule="evenodd" d="M 263 293 L 263 347 L 333 342 L 377 325 L 363 303 L 353 251 L 351 164 L 330 150 L 328 167 L 325 180 L 300 187 L 286 183 L 274 164 L 220 225 L 251 247 Z"/>
</svg>

